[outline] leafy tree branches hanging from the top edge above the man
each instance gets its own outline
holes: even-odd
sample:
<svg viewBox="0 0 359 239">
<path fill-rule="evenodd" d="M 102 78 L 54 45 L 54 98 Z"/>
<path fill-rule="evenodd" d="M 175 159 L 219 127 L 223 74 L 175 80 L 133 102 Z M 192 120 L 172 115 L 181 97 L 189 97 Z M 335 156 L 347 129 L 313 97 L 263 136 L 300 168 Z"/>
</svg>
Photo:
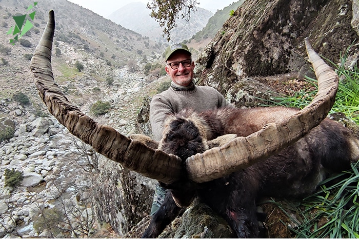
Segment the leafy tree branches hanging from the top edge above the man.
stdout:
<svg viewBox="0 0 359 239">
<path fill-rule="evenodd" d="M 151 0 L 147 8 L 151 10 L 151 17 L 163 27 L 163 36 L 167 35 L 167 41 L 170 41 L 170 31 L 177 26 L 176 20 L 179 14 L 188 22 L 191 11 L 197 10 L 196 5 L 198 5 L 197 0 Z"/>
</svg>

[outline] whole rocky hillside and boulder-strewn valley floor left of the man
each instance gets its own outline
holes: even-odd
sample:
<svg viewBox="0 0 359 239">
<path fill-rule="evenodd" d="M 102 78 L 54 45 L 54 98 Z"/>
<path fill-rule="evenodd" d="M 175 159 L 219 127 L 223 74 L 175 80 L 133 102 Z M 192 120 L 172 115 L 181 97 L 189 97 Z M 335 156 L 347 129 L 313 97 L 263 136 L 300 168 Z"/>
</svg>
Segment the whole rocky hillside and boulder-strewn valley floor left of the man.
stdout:
<svg viewBox="0 0 359 239">
<path fill-rule="evenodd" d="M 102 229 L 94 221 L 95 201 L 89 189 L 107 160 L 94 156 L 86 145 L 78 142 L 82 149 L 77 147 L 47 113 L 29 74 L 31 55 L 53 9 L 56 83 L 84 112 L 127 135 L 135 130 L 143 98 L 157 87 L 152 82 L 159 73 L 150 71 L 158 66 L 148 74 L 144 66 L 162 63 L 164 46 L 65 0 L 43 1 L 27 11 L 30 5 L 33 2 L 0 2 L 0 129 L 11 128 L 15 136 L 0 142 L 0 235 L 89 236 Z M 34 27 L 11 45 L 6 33 L 15 26 L 12 16 L 33 11 L 33 21 L 26 19 Z M 97 101 L 110 103 L 110 112 L 91 112 Z M 24 180 L 16 187 L 9 180 L 16 182 L 18 172 Z"/>
</svg>

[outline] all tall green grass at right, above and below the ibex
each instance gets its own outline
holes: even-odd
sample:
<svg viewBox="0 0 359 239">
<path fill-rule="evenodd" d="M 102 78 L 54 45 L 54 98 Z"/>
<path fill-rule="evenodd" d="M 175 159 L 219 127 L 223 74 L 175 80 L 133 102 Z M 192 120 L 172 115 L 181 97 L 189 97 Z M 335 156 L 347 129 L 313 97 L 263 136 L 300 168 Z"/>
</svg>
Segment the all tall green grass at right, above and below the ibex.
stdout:
<svg viewBox="0 0 359 239">
<path fill-rule="evenodd" d="M 356 66 L 345 69 L 350 47 L 341 54 L 340 64 L 336 65 L 327 59 L 340 77 L 335 104 L 330 113 L 342 112 L 359 124 L 359 69 Z M 307 77 L 306 81 L 317 86 L 315 79 Z M 303 108 L 315 94 L 316 90 L 293 92 L 293 96 L 273 98 L 272 103 Z M 294 228 L 288 228 L 297 238 L 359 238 L 358 169 L 359 162 L 352 164 L 350 170 L 328 178 L 321 183 L 318 192 L 304 198 L 299 206 L 291 202 L 269 202 L 282 209 L 295 223 Z M 296 218 L 293 218 L 293 212 Z"/>
</svg>

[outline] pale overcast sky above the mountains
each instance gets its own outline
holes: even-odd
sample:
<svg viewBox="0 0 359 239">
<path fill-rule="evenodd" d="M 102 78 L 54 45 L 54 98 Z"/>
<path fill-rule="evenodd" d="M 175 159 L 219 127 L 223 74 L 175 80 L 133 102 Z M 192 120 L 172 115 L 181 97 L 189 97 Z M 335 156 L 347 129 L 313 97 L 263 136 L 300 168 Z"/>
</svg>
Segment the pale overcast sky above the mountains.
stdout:
<svg viewBox="0 0 359 239">
<path fill-rule="evenodd" d="M 148 0 L 68 0 L 71 3 L 78 4 L 84 8 L 90 9 L 91 11 L 97 13 L 100 16 L 107 17 L 112 12 L 117 9 L 135 2 L 148 3 Z M 233 2 L 238 0 L 198 0 L 200 2 L 199 7 L 210 10 L 215 13 L 217 10 L 222 10 L 223 8 L 231 5 Z"/>
</svg>

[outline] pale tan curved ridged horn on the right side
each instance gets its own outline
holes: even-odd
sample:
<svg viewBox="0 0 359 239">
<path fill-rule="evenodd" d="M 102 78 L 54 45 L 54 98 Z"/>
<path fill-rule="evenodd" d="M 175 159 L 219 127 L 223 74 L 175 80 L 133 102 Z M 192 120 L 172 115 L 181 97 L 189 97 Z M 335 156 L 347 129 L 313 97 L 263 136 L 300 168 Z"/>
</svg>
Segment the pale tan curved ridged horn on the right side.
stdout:
<svg viewBox="0 0 359 239">
<path fill-rule="evenodd" d="M 307 54 L 318 80 L 313 101 L 281 122 L 267 124 L 247 137 L 187 158 L 189 179 L 203 183 L 247 168 L 293 144 L 327 116 L 335 101 L 338 75 L 318 56 L 305 39 Z"/>
</svg>

